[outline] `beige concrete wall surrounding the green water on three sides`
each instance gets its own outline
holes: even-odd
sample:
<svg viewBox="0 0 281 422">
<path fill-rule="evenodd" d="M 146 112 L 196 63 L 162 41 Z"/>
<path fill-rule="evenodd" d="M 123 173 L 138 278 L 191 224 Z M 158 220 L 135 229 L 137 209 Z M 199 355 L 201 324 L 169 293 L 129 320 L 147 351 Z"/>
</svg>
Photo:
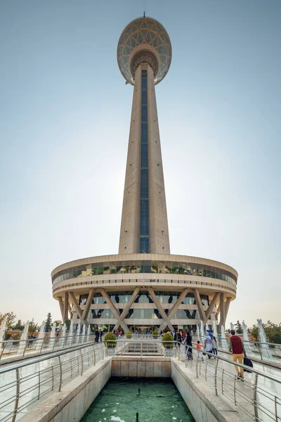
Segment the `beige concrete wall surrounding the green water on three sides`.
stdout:
<svg viewBox="0 0 281 422">
<path fill-rule="evenodd" d="M 20 422 L 79 422 L 111 376 L 172 378 L 196 422 L 245 422 L 202 378 L 170 357 L 107 357 L 20 418 Z"/>
</svg>

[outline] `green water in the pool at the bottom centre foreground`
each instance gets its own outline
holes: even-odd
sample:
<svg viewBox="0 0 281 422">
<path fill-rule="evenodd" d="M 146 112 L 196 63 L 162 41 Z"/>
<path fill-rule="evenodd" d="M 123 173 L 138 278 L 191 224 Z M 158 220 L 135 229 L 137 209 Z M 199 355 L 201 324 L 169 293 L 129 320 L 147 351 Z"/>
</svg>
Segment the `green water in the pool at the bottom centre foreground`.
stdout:
<svg viewBox="0 0 281 422">
<path fill-rule="evenodd" d="M 195 421 L 171 379 L 110 378 L 81 422 L 136 422 L 136 412 L 139 422 Z"/>
</svg>

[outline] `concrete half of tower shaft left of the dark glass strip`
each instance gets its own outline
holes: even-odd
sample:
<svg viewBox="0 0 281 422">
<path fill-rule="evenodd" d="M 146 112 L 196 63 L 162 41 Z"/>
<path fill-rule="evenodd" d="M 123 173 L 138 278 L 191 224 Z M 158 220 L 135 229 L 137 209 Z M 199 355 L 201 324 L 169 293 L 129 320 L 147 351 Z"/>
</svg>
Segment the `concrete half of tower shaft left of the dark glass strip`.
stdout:
<svg viewBox="0 0 281 422">
<path fill-rule="evenodd" d="M 119 254 L 140 252 L 141 72 L 136 72 L 119 238 Z"/>
</svg>

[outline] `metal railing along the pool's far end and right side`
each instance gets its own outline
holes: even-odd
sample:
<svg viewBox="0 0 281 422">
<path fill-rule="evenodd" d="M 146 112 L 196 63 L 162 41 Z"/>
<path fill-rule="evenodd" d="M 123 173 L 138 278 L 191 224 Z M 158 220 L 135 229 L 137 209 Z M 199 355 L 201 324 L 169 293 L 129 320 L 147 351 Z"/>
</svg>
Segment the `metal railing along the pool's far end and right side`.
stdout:
<svg viewBox="0 0 281 422">
<path fill-rule="evenodd" d="M 171 342 L 136 338 L 119 340 L 118 345 L 118 349 L 113 349 L 116 355 L 152 354 L 175 357 L 182 361 L 185 367 L 192 369 L 197 378 L 207 383 L 215 395 L 228 399 L 249 420 L 281 421 L 281 378 L 207 352 L 204 352 L 204 355 L 202 352 L 201 356 L 196 347 L 185 346 L 182 343 L 173 342 L 171 345 Z M 244 374 L 244 381 L 237 378 L 235 366 L 239 371 L 241 369 L 251 371 Z"/>
</svg>

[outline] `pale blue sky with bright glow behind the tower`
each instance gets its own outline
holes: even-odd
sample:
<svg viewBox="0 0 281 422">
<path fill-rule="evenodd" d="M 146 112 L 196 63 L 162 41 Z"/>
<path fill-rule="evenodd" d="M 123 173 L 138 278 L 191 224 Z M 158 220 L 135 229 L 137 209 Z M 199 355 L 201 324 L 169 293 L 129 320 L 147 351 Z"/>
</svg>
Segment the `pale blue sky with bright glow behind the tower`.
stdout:
<svg viewBox="0 0 281 422">
<path fill-rule="evenodd" d="M 159 20 L 171 253 L 239 274 L 228 324 L 280 323 L 280 0 L 0 2 L 0 312 L 41 324 L 51 271 L 118 252 L 133 88 L 119 36 Z"/>
</svg>

